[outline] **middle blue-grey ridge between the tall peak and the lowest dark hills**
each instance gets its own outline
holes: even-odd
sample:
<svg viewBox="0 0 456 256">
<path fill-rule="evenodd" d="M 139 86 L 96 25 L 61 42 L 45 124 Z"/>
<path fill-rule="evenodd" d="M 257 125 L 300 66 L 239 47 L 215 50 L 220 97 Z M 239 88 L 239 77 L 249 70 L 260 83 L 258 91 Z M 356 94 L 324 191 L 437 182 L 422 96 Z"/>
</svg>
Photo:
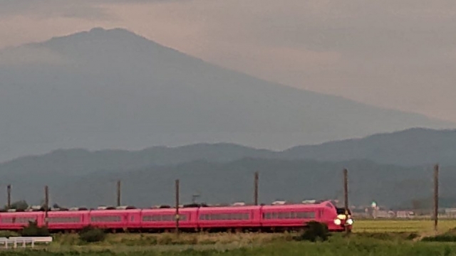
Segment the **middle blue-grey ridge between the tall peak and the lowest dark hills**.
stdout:
<svg viewBox="0 0 456 256">
<path fill-rule="evenodd" d="M 238 144 L 190 144 L 154 146 L 140 151 L 59 149 L 48 154 L 24 156 L 0 164 L 0 174 L 28 174 L 42 166 L 56 173 L 88 174 L 112 169 L 140 169 L 170 166 L 190 161 L 223 163 L 244 158 L 309 159 L 315 161 L 368 160 L 378 164 L 423 166 L 440 163 L 456 165 L 456 130 L 407 129 L 324 144 L 296 146 L 284 151 L 255 149 Z"/>
</svg>

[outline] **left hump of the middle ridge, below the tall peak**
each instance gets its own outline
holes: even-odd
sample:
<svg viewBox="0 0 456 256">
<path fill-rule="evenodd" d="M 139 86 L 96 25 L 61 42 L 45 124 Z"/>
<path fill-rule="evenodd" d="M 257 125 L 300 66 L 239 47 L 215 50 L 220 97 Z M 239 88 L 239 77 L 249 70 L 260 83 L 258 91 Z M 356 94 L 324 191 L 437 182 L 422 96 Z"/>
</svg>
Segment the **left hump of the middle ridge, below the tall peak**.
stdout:
<svg viewBox="0 0 456 256">
<path fill-rule="evenodd" d="M 191 161 L 229 162 L 243 158 L 274 158 L 276 152 L 235 144 L 193 144 L 179 147 L 155 146 L 140 151 L 59 149 L 48 154 L 24 156 L 0 164 L 0 176 L 14 183 L 48 176 L 83 176 L 112 170 L 175 166 Z"/>
</svg>

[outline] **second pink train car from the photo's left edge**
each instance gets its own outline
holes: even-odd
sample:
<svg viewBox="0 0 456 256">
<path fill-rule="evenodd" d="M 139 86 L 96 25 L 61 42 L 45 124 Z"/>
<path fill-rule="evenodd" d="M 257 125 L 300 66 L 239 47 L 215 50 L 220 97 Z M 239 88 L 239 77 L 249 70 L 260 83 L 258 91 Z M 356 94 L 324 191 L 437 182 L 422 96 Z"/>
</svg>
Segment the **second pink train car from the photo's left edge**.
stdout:
<svg viewBox="0 0 456 256">
<path fill-rule="evenodd" d="M 90 223 L 88 210 L 58 210 L 48 212 L 48 229 L 81 230 Z M 45 220 L 46 221 L 46 220 Z"/>
</svg>

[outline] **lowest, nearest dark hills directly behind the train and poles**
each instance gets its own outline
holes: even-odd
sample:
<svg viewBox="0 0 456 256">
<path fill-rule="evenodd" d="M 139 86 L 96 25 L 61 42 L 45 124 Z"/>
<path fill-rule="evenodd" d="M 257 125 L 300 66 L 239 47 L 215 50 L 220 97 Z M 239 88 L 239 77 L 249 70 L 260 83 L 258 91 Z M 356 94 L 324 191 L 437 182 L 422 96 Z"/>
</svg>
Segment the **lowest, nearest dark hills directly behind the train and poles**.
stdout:
<svg viewBox="0 0 456 256">
<path fill-rule="evenodd" d="M 342 169 L 349 170 L 350 202 L 381 206 L 410 206 L 415 199 L 432 195 L 432 166 L 400 167 L 371 161 L 318 162 L 278 159 L 240 159 L 225 163 L 192 161 L 176 166 L 150 166 L 142 169 L 112 170 L 79 177 L 67 176 L 26 183 L 20 180 L 12 188 L 13 200 L 37 203 L 43 198 L 43 186 L 49 185 L 51 203 L 61 206 L 113 205 L 115 181 L 122 181 L 124 205 L 150 207 L 172 205 L 174 181 L 180 179 L 182 203 L 190 203 L 199 193 L 199 202 L 233 203 L 253 201 L 253 174 L 259 171 L 259 201 L 300 202 L 304 199 L 339 199 L 342 193 Z M 440 195 L 456 206 L 453 183 L 456 168 L 440 171 Z M 0 203 L 5 199 L 0 198 Z"/>
</svg>

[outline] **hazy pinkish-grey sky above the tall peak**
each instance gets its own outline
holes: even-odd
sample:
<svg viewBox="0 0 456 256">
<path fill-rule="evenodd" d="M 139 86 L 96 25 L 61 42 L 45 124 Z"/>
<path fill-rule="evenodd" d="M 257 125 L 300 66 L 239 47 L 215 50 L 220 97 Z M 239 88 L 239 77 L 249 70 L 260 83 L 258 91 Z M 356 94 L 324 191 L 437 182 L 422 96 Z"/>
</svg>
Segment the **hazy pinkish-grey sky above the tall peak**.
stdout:
<svg viewBox="0 0 456 256">
<path fill-rule="evenodd" d="M 454 0 L 0 0 L 0 48 L 95 26 L 259 78 L 456 122 Z"/>
</svg>

